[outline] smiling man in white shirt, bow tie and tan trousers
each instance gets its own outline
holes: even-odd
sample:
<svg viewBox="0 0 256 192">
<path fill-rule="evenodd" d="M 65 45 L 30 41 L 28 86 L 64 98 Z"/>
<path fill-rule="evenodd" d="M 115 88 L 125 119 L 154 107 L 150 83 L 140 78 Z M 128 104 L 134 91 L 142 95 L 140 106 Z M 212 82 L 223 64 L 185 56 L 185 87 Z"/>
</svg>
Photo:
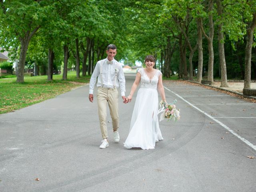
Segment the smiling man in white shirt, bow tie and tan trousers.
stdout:
<svg viewBox="0 0 256 192">
<path fill-rule="evenodd" d="M 90 79 L 89 100 L 93 102 L 93 89 L 97 82 L 97 100 L 98 100 L 98 115 L 100 119 L 100 130 L 102 134 L 102 144 L 100 148 L 108 147 L 108 130 L 106 125 L 107 104 L 112 118 L 112 125 L 114 131 L 114 141 L 119 142 L 119 116 L 118 116 L 118 90 L 120 86 L 121 96 L 123 102 L 126 102 L 125 97 L 125 78 L 122 69 L 122 64 L 114 59 L 116 55 L 116 46 L 108 45 L 107 58 L 97 62 L 95 69 Z"/>
</svg>

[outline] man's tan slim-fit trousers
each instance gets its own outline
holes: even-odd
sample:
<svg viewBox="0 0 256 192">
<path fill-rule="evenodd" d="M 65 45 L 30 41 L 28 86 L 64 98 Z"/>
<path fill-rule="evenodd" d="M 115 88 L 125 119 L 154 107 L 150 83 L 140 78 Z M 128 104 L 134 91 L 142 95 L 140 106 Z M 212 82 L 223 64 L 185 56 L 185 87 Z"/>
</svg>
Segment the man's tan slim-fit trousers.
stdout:
<svg viewBox="0 0 256 192">
<path fill-rule="evenodd" d="M 100 119 L 100 130 L 102 138 L 108 138 L 108 130 L 106 125 L 107 104 L 112 118 L 113 130 L 118 130 L 119 116 L 118 116 L 118 90 L 116 88 L 98 88 L 98 114 Z"/>
</svg>

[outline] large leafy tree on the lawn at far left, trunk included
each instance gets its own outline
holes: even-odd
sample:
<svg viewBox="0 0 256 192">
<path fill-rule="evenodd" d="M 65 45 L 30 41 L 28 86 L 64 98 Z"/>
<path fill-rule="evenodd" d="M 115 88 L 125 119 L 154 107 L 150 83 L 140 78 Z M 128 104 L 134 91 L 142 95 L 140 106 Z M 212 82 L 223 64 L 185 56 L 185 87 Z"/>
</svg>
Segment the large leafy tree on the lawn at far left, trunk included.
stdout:
<svg viewBox="0 0 256 192">
<path fill-rule="evenodd" d="M 24 82 L 24 66 L 29 42 L 38 29 L 45 24 L 52 9 L 51 0 L 0 1 L 2 27 L 0 36 L 10 44 L 19 42 L 20 56 L 17 68 L 17 82 Z M 5 42 L 6 43 L 6 42 Z"/>
</svg>

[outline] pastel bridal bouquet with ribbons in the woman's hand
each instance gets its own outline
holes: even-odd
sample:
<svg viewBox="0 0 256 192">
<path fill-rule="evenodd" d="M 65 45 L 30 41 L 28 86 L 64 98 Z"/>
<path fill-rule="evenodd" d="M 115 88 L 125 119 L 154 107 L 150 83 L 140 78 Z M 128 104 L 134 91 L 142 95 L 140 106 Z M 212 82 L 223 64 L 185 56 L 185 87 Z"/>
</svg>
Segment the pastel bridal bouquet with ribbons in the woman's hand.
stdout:
<svg viewBox="0 0 256 192">
<path fill-rule="evenodd" d="M 167 104 L 163 100 L 160 101 L 160 110 L 158 110 L 158 114 L 162 112 L 162 114 L 160 115 L 160 121 L 164 119 L 167 119 L 169 121 L 173 118 L 175 121 L 180 119 L 180 109 L 176 109 L 176 102 L 176 99 L 174 99 L 173 102 L 170 104 Z"/>
</svg>

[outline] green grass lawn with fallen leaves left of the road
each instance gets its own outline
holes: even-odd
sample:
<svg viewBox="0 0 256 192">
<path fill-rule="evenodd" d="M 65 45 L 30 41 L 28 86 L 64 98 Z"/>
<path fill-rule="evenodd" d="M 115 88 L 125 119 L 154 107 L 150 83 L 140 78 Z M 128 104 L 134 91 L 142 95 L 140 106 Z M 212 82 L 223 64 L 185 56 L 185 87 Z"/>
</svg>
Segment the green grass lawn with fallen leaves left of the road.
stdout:
<svg viewBox="0 0 256 192">
<path fill-rule="evenodd" d="M 54 75 L 48 82 L 47 76 L 24 77 L 24 83 L 16 83 L 16 77 L 0 78 L 0 114 L 12 112 L 26 106 L 53 98 L 82 86 L 90 77 L 76 78 L 76 72 L 68 72 L 68 80 L 62 75 Z"/>
</svg>

